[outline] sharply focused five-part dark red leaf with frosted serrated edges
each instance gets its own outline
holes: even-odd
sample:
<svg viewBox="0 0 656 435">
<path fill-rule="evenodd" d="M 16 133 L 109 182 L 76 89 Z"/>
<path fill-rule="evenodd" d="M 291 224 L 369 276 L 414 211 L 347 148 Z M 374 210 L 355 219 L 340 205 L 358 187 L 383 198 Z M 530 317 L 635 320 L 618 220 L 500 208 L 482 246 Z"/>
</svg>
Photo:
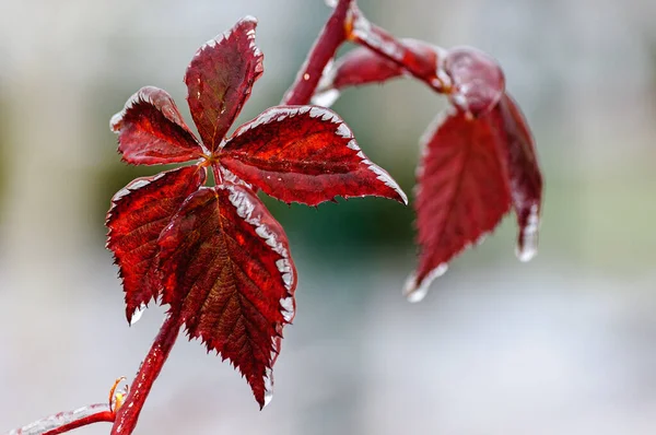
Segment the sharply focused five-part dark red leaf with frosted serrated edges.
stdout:
<svg viewBox="0 0 656 435">
<path fill-rule="evenodd" d="M 296 271 L 282 227 L 256 192 L 309 205 L 337 196 L 407 198 L 364 155 L 349 127 L 321 107 L 273 107 L 225 138 L 262 73 L 256 25 L 253 17 L 239 21 L 203 45 L 187 68 L 187 101 L 202 144 L 171 96 L 155 87 L 139 91 L 113 118 L 129 163 L 201 162 L 118 192 L 107 246 L 120 268 L 129 321 L 153 297 L 169 305 L 161 331 L 166 346 L 153 344 L 157 357 L 150 361 L 161 368 L 162 349 L 171 349 L 184 325 L 242 372 L 263 407 L 283 326 L 294 316 Z M 208 168 L 214 188 L 201 187 Z M 143 388 L 150 388 L 154 377 L 140 372 L 136 381 L 147 379 Z"/>
</svg>

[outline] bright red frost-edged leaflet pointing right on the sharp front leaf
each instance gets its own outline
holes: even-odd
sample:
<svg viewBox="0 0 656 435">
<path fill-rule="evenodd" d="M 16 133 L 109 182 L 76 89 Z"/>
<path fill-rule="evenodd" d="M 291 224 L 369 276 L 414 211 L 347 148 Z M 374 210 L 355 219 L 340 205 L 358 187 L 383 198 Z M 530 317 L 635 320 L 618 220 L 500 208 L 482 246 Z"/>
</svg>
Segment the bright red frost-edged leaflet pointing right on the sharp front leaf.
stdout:
<svg viewBox="0 0 656 435">
<path fill-rule="evenodd" d="M 237 129 L 220 162 L 246 183 L 288 203 L 316 205 L 337 196 L 367 195 L 407 203 L 389 174 L 362 153 L 349 127 L 323 107 L 265 110 Z"/>
</svg>

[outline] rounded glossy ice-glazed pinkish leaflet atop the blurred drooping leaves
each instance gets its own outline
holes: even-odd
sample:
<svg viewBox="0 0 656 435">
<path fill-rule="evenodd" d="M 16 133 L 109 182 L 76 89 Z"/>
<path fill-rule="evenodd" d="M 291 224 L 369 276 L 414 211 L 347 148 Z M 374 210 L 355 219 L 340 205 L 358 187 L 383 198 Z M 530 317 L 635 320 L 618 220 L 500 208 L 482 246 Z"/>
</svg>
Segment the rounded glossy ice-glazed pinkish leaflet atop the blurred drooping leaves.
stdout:
<svg viewBox="0 0 656 435">
<path fill-rule="evenodd" d="M 449 49 L 444 71 L 450 78 L 449 99 L 475 117 L 492 110 L 505 92 L 505 78 L 499 63 L 472 47 Z"/>
</svg>

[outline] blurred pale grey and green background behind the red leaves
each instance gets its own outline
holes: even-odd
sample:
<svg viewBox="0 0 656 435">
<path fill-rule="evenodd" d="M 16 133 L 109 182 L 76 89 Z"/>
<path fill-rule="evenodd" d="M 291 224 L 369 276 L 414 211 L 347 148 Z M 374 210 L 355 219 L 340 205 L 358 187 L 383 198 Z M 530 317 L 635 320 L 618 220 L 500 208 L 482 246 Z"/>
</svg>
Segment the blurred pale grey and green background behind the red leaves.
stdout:
<svg viewBox="0 0 656 435">
<path fill-rule="evenodd" d="M 516 260 L 506 219 L 411 305 L 410 208 L 267 200 L 300 273 L 273 401 L 259 412 L 227 363 L 180 340 L 137 433 L 656 433 L 656 2 L 360 4 L 398 36 L 503 64 L 547 180 L 540 254 Z M 128 327 L 103 223 L 116 190 L 160 168 L 121 164 L 109 118 L 152 84 L 190 119 L 188 61 L 246 14 L 266 73 L 238 121 L 280 101 L 329 15 L 321 0 L 0 0 L 0 432 L 102 402 L 136 373 L 163 309 Z M 335 109 L 411 192 L 444 104 L 398 81 Z"/>
</svg>

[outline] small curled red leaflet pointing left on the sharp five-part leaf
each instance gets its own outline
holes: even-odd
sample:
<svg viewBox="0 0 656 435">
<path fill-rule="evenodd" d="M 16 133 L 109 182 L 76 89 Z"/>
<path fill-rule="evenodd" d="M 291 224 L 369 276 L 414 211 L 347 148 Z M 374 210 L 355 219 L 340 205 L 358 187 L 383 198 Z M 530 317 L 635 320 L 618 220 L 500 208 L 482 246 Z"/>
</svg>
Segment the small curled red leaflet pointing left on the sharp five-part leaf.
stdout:
<svg viewBox="0 0 656 435">
<path fill-rule="evenodd" d="M 171 95 L 157 87 L 140 89 L 110 126 L 122 160 L 134 165 L 187 162 L 202 154 Z"/>
</svg>

